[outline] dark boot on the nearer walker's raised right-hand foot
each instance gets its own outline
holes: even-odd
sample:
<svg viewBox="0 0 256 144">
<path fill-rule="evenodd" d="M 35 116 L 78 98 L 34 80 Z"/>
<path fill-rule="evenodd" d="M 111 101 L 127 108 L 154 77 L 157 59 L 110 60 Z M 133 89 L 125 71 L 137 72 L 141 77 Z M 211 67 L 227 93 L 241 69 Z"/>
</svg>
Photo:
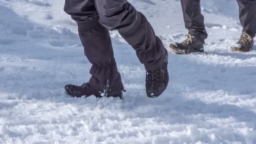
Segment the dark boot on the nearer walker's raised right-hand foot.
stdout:
<svg viewBox="0 0 256 144">
<path fill-rule="evenodd" d="M 160 96 L 167 88 L 169 82 L 169 74 L 167 69 L 167 63 L 163 64 L 163 67 L 147 71 L 146 73 L 146 93 L 149 98 L 155 98 Z"/>
</svg>

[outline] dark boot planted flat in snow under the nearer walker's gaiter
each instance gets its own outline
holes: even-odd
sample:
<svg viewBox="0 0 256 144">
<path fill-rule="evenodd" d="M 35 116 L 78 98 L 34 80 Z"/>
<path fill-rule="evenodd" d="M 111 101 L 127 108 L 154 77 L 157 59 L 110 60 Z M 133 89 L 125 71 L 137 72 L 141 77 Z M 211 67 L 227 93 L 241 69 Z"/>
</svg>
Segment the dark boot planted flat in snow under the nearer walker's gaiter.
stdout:
<svg viewBox="0 0 256 144">
<path fill-rule="evenodd" d="M 90 87 L 89 83 L 84 83 L 81 86 L 78 85 L 66 85 L 65 86 L 65 90 L 67 95 L 71 96 L 71 97 L 88 97 L 88 96 L 96 96 L 97 98 L 101 98 L 101 97 L 119 97 L 120 99 L 123 98 L 123 92 L 122 91 L 116 91 L 116 92 L 111 92 L 108 93 L 108 84 L 105 87 L 106 89 L 104 89 L 102 92 L 101 91 L 97 91 L 96 89 Z M 123 90 L 125 91 L 125 90 Z"/>
</svg>

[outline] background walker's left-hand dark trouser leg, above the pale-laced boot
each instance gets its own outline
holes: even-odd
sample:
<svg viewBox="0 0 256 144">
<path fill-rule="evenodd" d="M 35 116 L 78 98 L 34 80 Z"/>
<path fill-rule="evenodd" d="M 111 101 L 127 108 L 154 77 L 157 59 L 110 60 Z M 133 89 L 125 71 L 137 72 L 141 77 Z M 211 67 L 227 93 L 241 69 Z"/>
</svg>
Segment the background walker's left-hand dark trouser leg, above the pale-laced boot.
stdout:
<svg viewBox="0 0 256 144">
<path fill-rule="evenodd" d="M 208 35 L 201 13 L 200 0 L 181 0 L 181 8 L 185 27 L 189 30 L 189 34 L 198 36 L 201 40 L 206 39 Z"/>
</svg>

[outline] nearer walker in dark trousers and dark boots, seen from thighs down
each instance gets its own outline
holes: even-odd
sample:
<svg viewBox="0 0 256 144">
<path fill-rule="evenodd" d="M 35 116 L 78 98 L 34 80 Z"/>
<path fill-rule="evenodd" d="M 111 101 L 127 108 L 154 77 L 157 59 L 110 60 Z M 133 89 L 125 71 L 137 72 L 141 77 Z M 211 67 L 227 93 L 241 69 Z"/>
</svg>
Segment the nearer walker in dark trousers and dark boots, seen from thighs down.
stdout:
<svg viewBox="0 0 256 144">
<path fill-rule="evenodd" d="M 168 53 L 146 17 L 127 0 L 65 0 L 64 11 L 77 22 L 85 56 L 92 64 L 88 83 L 65 86 L 69 96 L 122 98 L 124 87 L 109 30 L 118 30 L 144 64 L 147 96 L 154 98 L 165 91 Z"/>
</svg>

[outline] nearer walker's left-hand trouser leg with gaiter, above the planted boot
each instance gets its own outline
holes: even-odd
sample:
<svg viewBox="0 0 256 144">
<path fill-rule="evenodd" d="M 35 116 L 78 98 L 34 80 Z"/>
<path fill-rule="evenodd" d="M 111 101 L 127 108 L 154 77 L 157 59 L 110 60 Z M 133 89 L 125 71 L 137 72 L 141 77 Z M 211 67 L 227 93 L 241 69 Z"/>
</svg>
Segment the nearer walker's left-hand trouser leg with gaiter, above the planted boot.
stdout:
<svg viewBox="0 0 256 144">
<path fill-rule="evenodd" d="M 109 93 L 122 91 L 123 84 L 117 70 L 109 31 L 99 24 L 94 0 L 65 0 L 64 11 L 77 21 L 85 56 L 92 64 L 92 77 L 88 83 L 95 90 L 93 95 L 104 91 L 107 80 Z M 87 95 L 86 91 L 84 95 Z"/>
</svg>

